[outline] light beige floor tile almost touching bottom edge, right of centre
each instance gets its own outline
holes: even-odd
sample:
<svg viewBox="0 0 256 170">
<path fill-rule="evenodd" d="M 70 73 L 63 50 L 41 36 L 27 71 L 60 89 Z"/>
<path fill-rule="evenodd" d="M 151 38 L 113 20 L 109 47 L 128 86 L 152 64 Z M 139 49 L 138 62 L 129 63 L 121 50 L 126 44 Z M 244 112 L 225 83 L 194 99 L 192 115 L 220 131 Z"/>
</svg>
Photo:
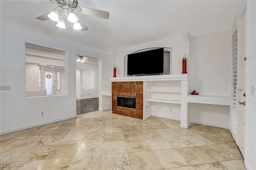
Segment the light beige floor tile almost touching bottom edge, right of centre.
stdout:
<svg viewBox="0 0 256 170">
<path fill-rule="evenodd" d="M 190 165 L 176 149 L 154 150 L 153 152 L 164 169 Z"/>
</svg>

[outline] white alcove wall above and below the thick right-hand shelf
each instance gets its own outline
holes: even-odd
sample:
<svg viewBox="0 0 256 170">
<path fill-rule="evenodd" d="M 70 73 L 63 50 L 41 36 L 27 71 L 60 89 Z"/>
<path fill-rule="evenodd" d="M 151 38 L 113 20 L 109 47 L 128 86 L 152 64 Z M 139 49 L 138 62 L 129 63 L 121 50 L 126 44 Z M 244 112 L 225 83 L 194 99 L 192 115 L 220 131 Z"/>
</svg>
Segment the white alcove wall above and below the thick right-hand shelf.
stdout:
<svg viewBox="0 0 256 170">
<path fill-rule="evenodd" d="M 190 92 L 230 96 L 231 31 L 190 39 Z M 230 127 L 230 106 L 190 103 L 192 123 Z"/>
</svg>

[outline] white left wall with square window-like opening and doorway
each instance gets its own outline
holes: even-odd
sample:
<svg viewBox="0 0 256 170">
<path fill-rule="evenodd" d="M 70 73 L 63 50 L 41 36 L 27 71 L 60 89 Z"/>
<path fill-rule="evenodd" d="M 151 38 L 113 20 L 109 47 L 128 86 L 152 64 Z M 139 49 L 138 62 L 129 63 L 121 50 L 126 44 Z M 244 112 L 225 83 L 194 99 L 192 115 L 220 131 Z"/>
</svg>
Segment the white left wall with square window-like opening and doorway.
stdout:
<svg viewBox="0 0 256 170">
<path fill-rule="evenodd" d="M 110 84 L 109 78 L 112 72 L 110 72 L 111 57 L 108 54 L 3 23 L 0 31 L 0 82 L 1 85 L 10 85 L 10 90 L 0 91 L 1 134 L 76 117 L 76 53 L 101 59 L 101 74 L 102 77 L 106 77 L 102 79 L 102 83 Z M 26 42 L 67 51 L 65 95 L 25 97 Z M 102 105 L 104 102 L 103 100 Z M 41 111 L 44 111 L 44 116 L 40 115 Z"/>
</svg>

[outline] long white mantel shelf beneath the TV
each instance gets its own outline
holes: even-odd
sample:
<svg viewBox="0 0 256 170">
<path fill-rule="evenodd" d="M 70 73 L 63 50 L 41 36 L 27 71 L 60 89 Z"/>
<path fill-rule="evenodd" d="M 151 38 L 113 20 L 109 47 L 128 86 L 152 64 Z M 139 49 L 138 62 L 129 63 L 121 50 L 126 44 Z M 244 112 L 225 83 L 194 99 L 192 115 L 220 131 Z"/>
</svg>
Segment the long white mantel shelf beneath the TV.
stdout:
<svg viewBox="0 0 256 170">
<path fill-rule="evenodd" d="M 130 76 L 130 77 L 111 77 L 111 82 L 118 81 L 175 81 L 187 80 L 188 74 L 171 74 L 171 75 L 145 75 L 145 76 Z"/>
</svg>

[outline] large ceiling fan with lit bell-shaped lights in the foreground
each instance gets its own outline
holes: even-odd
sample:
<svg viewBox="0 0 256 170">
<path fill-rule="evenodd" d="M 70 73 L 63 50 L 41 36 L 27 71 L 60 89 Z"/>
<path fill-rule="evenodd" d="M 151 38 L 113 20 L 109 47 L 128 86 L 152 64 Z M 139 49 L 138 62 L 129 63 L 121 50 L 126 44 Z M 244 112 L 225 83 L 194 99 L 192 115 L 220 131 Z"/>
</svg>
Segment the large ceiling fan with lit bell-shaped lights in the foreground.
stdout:
<svg viewBox="0 0 256 170">
<path fill-rule="evenodd" d="M 82 31 L 88 30 L 84 22 L 82 22 L 80 17 L 74 12 L 75 10 L 77 12 L 80 12 L 81 14 L 96 16 L 104 19 L 109 18 L 109 12 L 78 6 L 78 0 L 48 0 L 48 1 L 54 4 L 57 4 L 58 7 L 56 7 L 50 12 L 47 12 L 46 14 L 38 16 L 37 19 L 46 21 L 50 18 L 51 20 L 58 22 L 56 26 L 60 28 L 64 28 L 64 29 L 66 28 L 65 20 L 64 20 L 66 18 L 69 22 L 74 23 L 73 28 L 75 30 L 82 30 Z"/>
</svg>

